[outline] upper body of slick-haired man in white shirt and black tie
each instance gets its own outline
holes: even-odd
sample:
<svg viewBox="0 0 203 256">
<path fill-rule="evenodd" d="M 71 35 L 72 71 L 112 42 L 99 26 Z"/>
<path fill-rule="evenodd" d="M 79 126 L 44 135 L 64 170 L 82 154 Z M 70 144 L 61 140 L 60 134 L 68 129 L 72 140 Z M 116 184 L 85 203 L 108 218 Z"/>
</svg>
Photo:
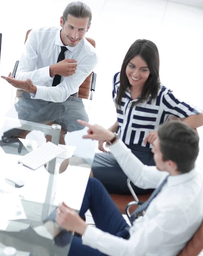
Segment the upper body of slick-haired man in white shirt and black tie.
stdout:
<svg viewBox="0 0 203 256">
<path fill-rule="evenodd" d="M 30 93 L 31 99 L 64 102 L 97 64 L 94 47 L 84 38 L 92 19 L 82 2 L 66 6 L 56 27 L 33 29 L 25 43 L 16 79 L 2 76 L 11 85 Z"/>
</svg>

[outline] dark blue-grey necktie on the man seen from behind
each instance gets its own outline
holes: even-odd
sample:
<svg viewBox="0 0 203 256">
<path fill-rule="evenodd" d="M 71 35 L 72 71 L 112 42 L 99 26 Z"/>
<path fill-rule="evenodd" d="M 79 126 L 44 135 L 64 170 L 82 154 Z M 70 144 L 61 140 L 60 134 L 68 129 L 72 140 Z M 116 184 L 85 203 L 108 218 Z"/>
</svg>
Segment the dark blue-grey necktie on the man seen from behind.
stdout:
<svg viewBox="0 0 203 256">
<path fill-rule="evenodd" d="M 140 215 L 142 215 L 143 211 L 145 211 L 148 208 L 148 206 L 151 203 L 151 201 L 158 195 L 159 192 L 161 192 L 161 189 L 166 184 L 166 181 L 167 181 L 168 177 L 169 177 L 169 175 L 161 182 L 161 184 L 158 186 L 158 188 L 154 190 L 154 192 L 149 197 L 149 199 L 146 202 L 144 202 L 144 204 L 141 204 L 141 206 L 138 207 L 132 213 L 132 215 L 130 216 L 131 224 L 133 224 L 133 221 L 135 221 L 136 218 L 138 218 Z"/>
</svg>

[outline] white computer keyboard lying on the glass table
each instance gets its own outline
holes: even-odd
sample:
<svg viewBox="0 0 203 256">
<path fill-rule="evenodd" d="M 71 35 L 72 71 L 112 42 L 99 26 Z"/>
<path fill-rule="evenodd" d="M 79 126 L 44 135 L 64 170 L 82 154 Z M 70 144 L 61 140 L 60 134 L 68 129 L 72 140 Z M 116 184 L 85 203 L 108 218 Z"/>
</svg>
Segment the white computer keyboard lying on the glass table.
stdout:
<svg viewBox="0 0 203 256">
<path fill-rule="evenodd" d="M 65 148 L 61 148 L 54 143 L 47 142 L 36 150 L 26 154 L 25 157 L 18 160 L 18 163 L 23 163 L 24 166 L 36 170 L 57 157 L 59 154 L 62 154 L 64 151 Z"/>
</svg>

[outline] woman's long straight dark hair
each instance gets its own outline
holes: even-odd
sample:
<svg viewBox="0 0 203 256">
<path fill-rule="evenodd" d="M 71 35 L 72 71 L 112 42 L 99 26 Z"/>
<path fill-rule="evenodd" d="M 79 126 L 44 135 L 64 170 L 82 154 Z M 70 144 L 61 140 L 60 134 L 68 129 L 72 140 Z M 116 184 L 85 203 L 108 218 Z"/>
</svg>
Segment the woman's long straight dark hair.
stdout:
<svg viewBox="0 0 203 256">
<path fill-rule="evenodd" d="M 126 67 L 130 60 L 136 55 L 140 55 L 141 58 L 143 58 L 143 60 L 147 63 L 150 74 L 144 84 L 141 96 L 138 101 L 135 102 L 135 104 L 137 104 L 138 102 L 143 102 L 144 100 L 151 101 L 152 99 L 155 99 L 158 94 L 158 89 L 160 87 L 158 48 L 152 41 L 146 39 L 138 39 L 131 45 L 131 47 L 127 51 L 121 67 L 120 86 L 116 97 L 116 104 L 120 108 L 121 99 L 124 96 L 124 93 L 127 91 L 128 87 L 131 87 L 126 75 Z"/>
</svg>

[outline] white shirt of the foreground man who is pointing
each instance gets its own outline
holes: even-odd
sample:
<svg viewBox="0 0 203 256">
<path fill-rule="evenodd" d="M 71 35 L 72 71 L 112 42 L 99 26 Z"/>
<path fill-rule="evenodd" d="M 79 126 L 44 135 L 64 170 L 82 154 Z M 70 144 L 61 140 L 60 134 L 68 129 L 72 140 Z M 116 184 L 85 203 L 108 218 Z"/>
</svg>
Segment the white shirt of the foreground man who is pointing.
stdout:
<svg viewBox="0 0 203 256">
<path fill-rule="evenodd" d="M 168 175 L 145 166 L 119 140 L 109 147 L 121 168 L 136 186 L 156 188 Z M 125 240 L 88 226 L 82 243 L 109 256 L 175 256 L 194 235 L 203 220 L 203 175 L 193 169 L 170 176 L 144 217 L 130 228 Z"/>
</svg>

